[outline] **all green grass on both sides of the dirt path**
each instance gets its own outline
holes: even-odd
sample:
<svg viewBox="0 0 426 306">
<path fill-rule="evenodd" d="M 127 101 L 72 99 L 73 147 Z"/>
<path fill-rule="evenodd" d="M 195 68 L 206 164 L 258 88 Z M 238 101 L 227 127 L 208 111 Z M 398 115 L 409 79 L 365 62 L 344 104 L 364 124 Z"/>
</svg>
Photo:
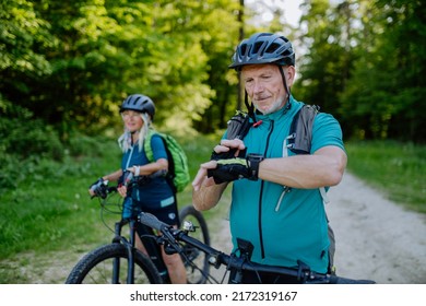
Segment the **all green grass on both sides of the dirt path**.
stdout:
<svg viewBox="0 0 426 306">
<path fill-rule="evenodd" d="M 191 178 L 199 165 L 209 160 L 217 139 L 218 136 L 179 139 L 188 155 Z M 19 270 L 8 270 L 4 262 L 19 260 L 20 254 L 75 250 L 110 242 L 111 234 L 100 223 L 98 202 L 90 199 L 87 188 L 100 175 L 119 167 L 121 152 L 115 140 L 92 143 L 97 143 L 93 154 L 85 150 L 82 156 L 49 164 L 43 179 L 28 177 L 25 184 L 0 193 L 0 283 L 16 282 Z M 390 199 L 426 213 L 425 146 L 350 142 L 346 150 L 351 173 L 384 191 Z M 188 186 L 178 195 L 179 207 L 190 204 L 191 197 Z M 212 214 L 215 210 L 204 216 L 209 220 Z M 23 260 L 20 264 L 25 264 Z"/>
</svg>

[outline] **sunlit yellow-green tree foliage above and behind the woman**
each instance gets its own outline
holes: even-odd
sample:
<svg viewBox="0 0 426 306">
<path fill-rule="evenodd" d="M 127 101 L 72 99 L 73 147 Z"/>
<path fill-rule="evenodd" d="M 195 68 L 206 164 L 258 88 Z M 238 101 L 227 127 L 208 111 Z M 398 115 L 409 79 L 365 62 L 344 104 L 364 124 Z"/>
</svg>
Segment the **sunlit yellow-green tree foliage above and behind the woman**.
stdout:
<svg viewBox="0 0 426 306">
<path fill-rule="evenodd" d="M 215 59 L 230 58 L 236 44 L 235 0 L 5 5 L 0 75 L 8 82 L 0 93 L 55 126 L 61 138 L 75 129 L 97 133 L 116 126 L 120 103 L 137 92 L 156 103 L 158 125 L 179 122 L 187 132 L 215 90 L 227 86 L 222 75 L 227 64 L 216 66 Z M 16 14 L 10 20 L 8 11 Z M 224 104 L 229 92 L 221 92 Z"/>
</svg>

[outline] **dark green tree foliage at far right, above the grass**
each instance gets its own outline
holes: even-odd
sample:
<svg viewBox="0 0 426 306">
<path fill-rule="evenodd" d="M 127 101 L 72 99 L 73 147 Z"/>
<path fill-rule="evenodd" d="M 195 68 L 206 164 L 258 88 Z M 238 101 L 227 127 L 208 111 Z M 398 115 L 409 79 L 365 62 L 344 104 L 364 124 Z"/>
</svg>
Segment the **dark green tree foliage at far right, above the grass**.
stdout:
<svg viewBox="0 0 426 306">
<path fill-rule="evenodd" d="M 364 50 L 357 50 L 362 54 L 342 94 L 340 111 L 345 120 L 356 122 L 359 138 L 419 142 L 424 140 L 422 125 L 426 119 L 422 102 L 426 83 L 419 76 L 426 63 L 421 51 L 426 49 L 426 24 L 421 15 L 425 5 L 395 1 L 389 7 L 376 1 L 375 5 L 366 3 L 365 10 L 372 22 L 365 25 Z"/>
</svg>

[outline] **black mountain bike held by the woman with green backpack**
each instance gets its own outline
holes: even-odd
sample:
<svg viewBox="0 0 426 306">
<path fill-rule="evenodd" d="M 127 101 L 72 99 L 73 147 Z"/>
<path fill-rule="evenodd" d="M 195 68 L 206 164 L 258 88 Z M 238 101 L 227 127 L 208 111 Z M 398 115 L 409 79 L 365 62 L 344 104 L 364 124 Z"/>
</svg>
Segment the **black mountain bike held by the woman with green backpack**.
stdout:
<svg viewBox="0 0 426 306">
<path fill-rule="evenodd" d="M 131 185 L 135 184 L 138 184 L 137 180 L 131 183 Z M 130 188 L 128 190 L 130 193 Z M 100 196 L 98 198 L 102 212 L 121 214 L 121 198 L 118 196 L 117 187 L 105 187 L 103 192 L 103 195 L 98 195 Z M 118 199 L 115 201 L 114 197 Z M 102 219 L 106 225 L 104 217 Z M 205 245 L 210 245 L 205 220 L 192 205 L 186 205 L 179 211 L 179 220 L 181 224 L 192 224 L 192 228 L 189 228 L 189 231 L 193 231 L 193 233 L 196 233 L 196 228 L 201 229 L 197 233 L 198 239 Z M 114 232 L 113 242 L 83 256 L 71 270 L 66 283 L 170 283 L 161 254 L 163 238 L 155 234 L 152 227 L 143 225 L 140 238 L 149 256 L 141 252 L 135 248 L 137 222 L 137 217 L 121 219 L 116 222 L 114 231 L 110 228 Z M 106 226 L 108 227 L 108 225 Z M 129 227 L 128 236 L 122 235 L 125 226 Z M 167 254 L 174 252 L 168 246 L 165 246 L 165 251 Z M 188 282 L 193 284 L 205 283 L 205 275 L 209 274 L 210 269 L 208 257 L 189 244 L 181 246 L 180 255 L 187 270 Z"/>
</svg>

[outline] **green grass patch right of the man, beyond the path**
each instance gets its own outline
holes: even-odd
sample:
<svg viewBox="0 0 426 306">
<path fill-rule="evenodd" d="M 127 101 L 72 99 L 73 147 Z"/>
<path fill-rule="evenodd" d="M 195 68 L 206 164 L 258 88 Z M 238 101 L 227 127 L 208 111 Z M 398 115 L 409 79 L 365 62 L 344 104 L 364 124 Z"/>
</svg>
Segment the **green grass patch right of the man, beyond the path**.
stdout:
<svg viewBox="0 0 426 306">
<path fill-rule="evenodd" d="M 389 199 L 426 213 L 426 146 L 393 141 L 350 142 L 347 168 Z"/>
</svg>

